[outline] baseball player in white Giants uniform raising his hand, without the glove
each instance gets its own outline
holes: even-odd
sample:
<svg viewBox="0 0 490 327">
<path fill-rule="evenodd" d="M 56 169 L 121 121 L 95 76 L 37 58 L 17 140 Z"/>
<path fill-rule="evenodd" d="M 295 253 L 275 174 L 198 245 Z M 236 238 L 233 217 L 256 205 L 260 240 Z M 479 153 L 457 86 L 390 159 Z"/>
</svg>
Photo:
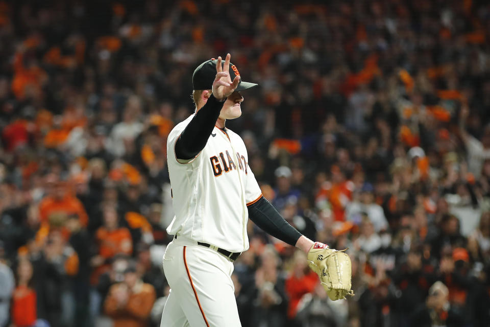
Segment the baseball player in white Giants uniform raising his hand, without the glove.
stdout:
<svg viewBox="0 0 490 327">
<path fill-rule="evenodd" d="M 163 256 L 171 291 L 162 327 L 240 326 L 231 274 L 233 262 L 249 248 L 249 218 L 306 253 L 327 248 L 302 236 L 262 197 L 242 139 L 225 127 L 227 119 L 241 115 L 240 92 L 257 85 L 241 81 L 230 58 L 195 69 L 195 112 L 168 135 L 175 217 L 167 228 L 174 240 Z"/>
</svg>

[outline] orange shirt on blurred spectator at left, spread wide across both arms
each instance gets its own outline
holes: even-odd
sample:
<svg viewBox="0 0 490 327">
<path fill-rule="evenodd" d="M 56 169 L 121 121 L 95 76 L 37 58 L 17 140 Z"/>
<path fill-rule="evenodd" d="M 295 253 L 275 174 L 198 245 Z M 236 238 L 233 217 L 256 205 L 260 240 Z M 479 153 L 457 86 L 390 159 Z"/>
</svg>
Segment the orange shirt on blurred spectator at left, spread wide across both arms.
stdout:
<svg viewBox="0 0 490 327">
<path fill-rule="evenodd" d="M 48 222 L 50 214 L 57 212 L 63 212 L 67 216 L 76 215 L 83 226 L 87 226 L 88 224 L 88 216 L 82 202 L 69 194 L 60 200 L 47 196 L 39 203 L 39 217 L 41 222 Z"/>
</svg>

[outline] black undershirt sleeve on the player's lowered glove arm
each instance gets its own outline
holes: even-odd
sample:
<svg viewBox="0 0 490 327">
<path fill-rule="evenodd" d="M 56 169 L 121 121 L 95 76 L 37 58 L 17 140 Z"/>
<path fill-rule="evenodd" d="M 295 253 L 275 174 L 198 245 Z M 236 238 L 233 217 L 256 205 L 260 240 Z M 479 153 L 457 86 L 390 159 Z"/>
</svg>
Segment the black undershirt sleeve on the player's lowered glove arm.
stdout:
<svg viewBox="0 0 490 327">
<path fill-rule="evenodd" d="M 295 246 L 301 233 L 284 220 L 276 208 L 261 197 L 257 202 L 248 206 L 249 218 L 266 233 Z"/>
</svg>

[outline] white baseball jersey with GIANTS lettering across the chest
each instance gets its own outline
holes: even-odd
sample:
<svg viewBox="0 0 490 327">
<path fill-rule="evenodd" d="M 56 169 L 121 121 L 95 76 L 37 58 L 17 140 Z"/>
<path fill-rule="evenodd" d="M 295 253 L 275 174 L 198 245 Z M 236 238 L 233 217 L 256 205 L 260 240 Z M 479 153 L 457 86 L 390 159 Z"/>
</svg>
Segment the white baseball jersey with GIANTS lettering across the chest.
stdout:
<svg viewBox="0 0 490 327">
<path fill-rule="evenodd" d="M 177 160 L 175 143 L 193 116 L 174 127 L 167 139 L 175 212 L 167 232 L 243 252 L 249 248 L 247 205 L 262 195 L 248 164 L 247 149 L 238 134 L 215 126 L 195 158 Z"/>
</svg>

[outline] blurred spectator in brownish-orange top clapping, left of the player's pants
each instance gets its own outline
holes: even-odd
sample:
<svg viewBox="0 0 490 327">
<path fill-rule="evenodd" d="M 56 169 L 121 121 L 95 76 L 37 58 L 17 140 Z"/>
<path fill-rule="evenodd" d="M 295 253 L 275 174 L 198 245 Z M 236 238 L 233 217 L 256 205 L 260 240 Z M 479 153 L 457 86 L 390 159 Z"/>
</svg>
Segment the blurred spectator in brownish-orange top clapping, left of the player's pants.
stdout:
<svg viewBox="0 0 490 327">
<path fill-rule="evenodd" d="M 110 288 L 104 311 L 112 317 L 114 327 L 147 327 L 155 297 L 153 286 L 143 283 L 136 266 L 130 264 L 125 270 L 124 282 Z"/>
</svg>

